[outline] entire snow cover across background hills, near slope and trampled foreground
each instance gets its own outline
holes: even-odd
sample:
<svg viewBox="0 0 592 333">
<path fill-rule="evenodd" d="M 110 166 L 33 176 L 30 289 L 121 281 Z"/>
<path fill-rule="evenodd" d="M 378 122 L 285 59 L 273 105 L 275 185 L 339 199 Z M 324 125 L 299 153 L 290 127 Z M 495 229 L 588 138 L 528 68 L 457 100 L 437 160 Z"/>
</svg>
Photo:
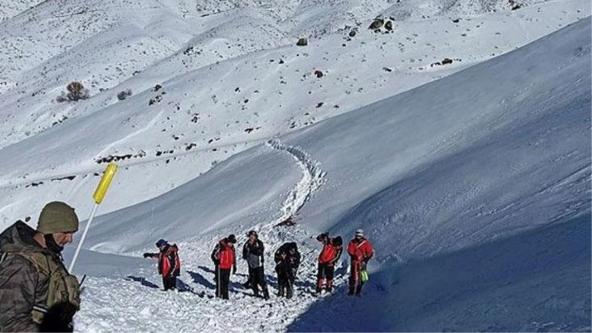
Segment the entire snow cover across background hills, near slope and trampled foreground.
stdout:
<svg viewBox="0 0 592 333">
<path fill-rule="evenodd" d="M 590 331 L 592 7 L 520 3 L 13 0 L 0 226 L 56 199 L 86 216 L 101 159 L 130 155 L 75 268 L 76 331 Z M 378 14 L 394 33 L 366 29 Z M 58 103 L 75 79 L 91 98 Z M 365 296 L 344 295 L 343 258 L 314 297 L 314 237 L 358 228 Z M 294 299 L 250 296 L 244 262 L 213 298 L 211 249 L 250 229 L 272 292 L 273 251 L 298 242 Z M 182 292 L 141 259 L 159 238 Z"/>
</svg>

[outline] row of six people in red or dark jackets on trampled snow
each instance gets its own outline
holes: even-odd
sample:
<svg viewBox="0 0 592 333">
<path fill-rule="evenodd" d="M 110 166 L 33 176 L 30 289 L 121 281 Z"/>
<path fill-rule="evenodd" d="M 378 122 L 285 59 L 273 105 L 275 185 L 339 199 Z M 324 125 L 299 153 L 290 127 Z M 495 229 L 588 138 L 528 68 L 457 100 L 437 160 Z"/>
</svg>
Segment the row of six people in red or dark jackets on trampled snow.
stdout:
<svg viewBox="0 0 592 333">
<path fill-rule="evenodd" d="M 269 299 L 269 288 L 265 280 L 265 245 L 259 239 L 255 230 L 247 233 L 247 241 L 243 245 L 243 260 L 249 269 L 249 277 L 243 283 L 245 289 L 252 289 L 255 297 L 262 296 Z M 321 233 L 317 241 L 323 245 L 318 255 L 318 270 L 316 294 L 323 290 L 333 292 L 333 278 L 335 265 L 339 262 L 343 253 L 343 238 L 341 236 L 330 237 L 329 233 Z M 214 262 L 214 280 L 216 281 L 216 297 L 229 299 L 230 277 L 236 274 L 236 243 L 237 239 L 231 234 L 221 239 L 211 254 Z M 156 246 L 159 253 L 145 253 L 144 258 L 155 258 L 159 261 L 158 270 L 162 274 L 163 288 L 175 289 L 176 277 L 179 276 L 181 262 L 179 261 L 178 248 L 169 245 L 160 239 Z M 356 231 L 354 238 L 348 244 L 350 256 L 349 294 L 358 296 L 362 293 L 362 286 L 368 280 L 366 264 L 374 255 L 372 245 L 365 238 L 363 230 Z M 294 281 L 297 278 L 298 267 L 301 263 L 301 255 L 295 242 L 287 242 L 280 246 L 274 254 L 275 273 L 278 278 L 278 296 L 288 299 L 294 296 Z M 261 295 L 262 294 L 262 295 Z"/>
</svg>

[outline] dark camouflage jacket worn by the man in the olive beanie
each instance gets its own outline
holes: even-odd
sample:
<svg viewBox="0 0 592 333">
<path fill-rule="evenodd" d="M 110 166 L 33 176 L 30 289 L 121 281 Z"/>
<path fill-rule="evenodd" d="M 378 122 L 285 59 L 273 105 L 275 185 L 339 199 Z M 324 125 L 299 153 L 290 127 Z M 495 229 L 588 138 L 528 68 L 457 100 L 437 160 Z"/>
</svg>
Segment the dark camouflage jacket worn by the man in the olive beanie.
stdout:
<svg viewBox="0 0 592 333">
<path fill-rule="evenodd" d="M 37 332 L 44 313 L 56 299 L 52 290 L 64 290 L 70 276 L 60 255 L 34 239 L 36 231 L 17 222 L 0 234 L 0 332 Z M 72 277 L 75 280 L 75 277 Z M 50 290 L 50 281 L 54 287 Z M 76 280 L 75 284 L 78 283 Z M 76 286 L 78 287 L 78 286 Z M 75 295 L 78 299 L 78 293 Z M 76 304 L 78 306 L 78 304 Z"/>
</svg>

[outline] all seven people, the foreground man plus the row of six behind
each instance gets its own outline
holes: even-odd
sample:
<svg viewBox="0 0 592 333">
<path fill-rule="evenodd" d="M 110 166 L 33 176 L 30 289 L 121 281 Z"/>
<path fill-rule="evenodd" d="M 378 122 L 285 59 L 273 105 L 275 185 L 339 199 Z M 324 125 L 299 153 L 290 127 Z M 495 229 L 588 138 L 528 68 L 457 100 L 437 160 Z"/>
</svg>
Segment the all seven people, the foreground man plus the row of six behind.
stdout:
<svg viewBox="0 0 592 333">
<path fill-rule="evenodd" d="M 72 318 L 80 305 L 78 278 L 63 262 L 63 246 L 72 242 L 78 231 L 75 210 L 54 201 L 41 210 L 37 229 L 22 221 L 0 234 L 0 332 L 72 332 Z M 256 297 L 269 299 L 265 278 L 265 245 L 255 230 L 247 233 L 242 258 L 249 268 L 243 286 Z M 323 248 L 318 256 L 316 293 L 333 292 L 335 266 L 343 252 L 343 239 L 318 235 Z M 235 235 L 221 239 L 211 253 L 215 266 L 216 296 L 229 299 L 231 274 L 236 274 Z M 165 239 L 156 242 L 159 252 L 144 253 L 144 258 L 158 261 L 164 290 L 175 290 L 181 274 L 179 248 Z M 357 230 L 348 244 L 350 256 L 349 294 L 361 295 L 368 280 L 366 264 L 374 250 L 363 230 Z M 274 254 L 278 278 L 278 296 L 294 296 L 294 282 L 302 257 L 295 242 L 287 242 Z M 262 293 L 262 295 L 261 295 Z"/>
</svg>

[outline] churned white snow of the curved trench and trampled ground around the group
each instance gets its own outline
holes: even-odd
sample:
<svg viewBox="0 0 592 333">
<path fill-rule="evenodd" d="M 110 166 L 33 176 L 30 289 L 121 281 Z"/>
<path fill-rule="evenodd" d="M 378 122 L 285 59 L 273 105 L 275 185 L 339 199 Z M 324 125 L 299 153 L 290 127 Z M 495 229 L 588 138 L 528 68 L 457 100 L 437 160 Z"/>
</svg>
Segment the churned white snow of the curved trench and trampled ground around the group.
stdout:
<svg viewBox="0 0 592 333">
<path fill-rule="evenodd" d="M 80 332 L 189 332 L 207 330 L 208 332 L 273 332 L 285 331 L 298 316 L 302 315 L 317 297 L 312 292 L 316 284 L 316 257 L 320 248 L 314 235 L 294 226 L 276 226 L 287 219 L 295 219 L 296 214 L 320 188 L 326 172 L 320 163 L 314 161 L 307 152 L 289 146 L 280 140 L 269 140 L 270 149 L 285 152 L 294 158 L 302 171 L 302 178 L 288 191 L 284 203 L 279 207 L 278 218 L 237 233 L 237 261 L 239 273 L 231 282 L 231 299 L 224 301 L 214 298 L 214 274 L 209 262 L 209 252 L 204 254 L 204 244 L 212 247 L 215 239 L 198 239 L 180 243 L 183 273 L 180 285 L 185 292 L 170 293 L 160 290 L 160 280 L 153 272 L 145 272 L 148 277 L 128 277 L 121 280 L 112 278 L 89 278 L 83 298 L 81 313 L 76 318 L 76 331 Z M 255 229 L 266 246 L 266 278 L 272 297 L 270 300 L 255 298 L 250 290 L 244 290 L 240 283 L 246 281 L 244 264 L 240 263 L 240 252 L 244 233 Z M 277 280 L 274 271 L 274 252 L 281 244 L 295 241 L 303 257 L 303 262 L 295 283 L 295 296 L 292 299 L 278 298 Z M 339 267 L 338 267 L 339 271 Z M 189 274 L 189 278 L 187 274 Z M 191 281 L 192 280 L 192 281 Z M 338 287 L 345 283 L 344 276 L 337 275 Z M 112 284 L 120 286 L 112 288 Z M 115 304 L 114 304 L 115 300 Z M 101 305 L 110 306 L 101 306 Z M 153 317 L 159 321 L 149 320 Z M 262 324 L 264 323 L 264 324 Z"/>
</svg>

